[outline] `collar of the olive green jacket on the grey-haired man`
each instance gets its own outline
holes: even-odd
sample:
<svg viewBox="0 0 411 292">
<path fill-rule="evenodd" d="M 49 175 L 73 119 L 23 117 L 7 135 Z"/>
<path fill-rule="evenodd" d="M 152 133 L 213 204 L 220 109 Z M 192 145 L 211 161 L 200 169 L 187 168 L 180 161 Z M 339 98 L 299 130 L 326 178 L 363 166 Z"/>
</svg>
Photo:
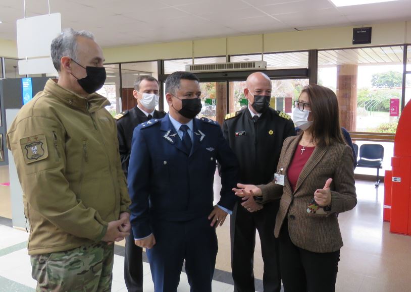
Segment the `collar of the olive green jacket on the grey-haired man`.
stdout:
<svg viewBox="0 0 411 292">
<path fill-rule="evenodd" d="M 91 93 L 87 96 L 87 98 L 85 98 L 60 86 L 52 79 L 47 80 L 43 91 L 56 97 L 68 106 L 75 107 L 83 111 L 94 112 L 110 105 L 110 101 L 104 96 L 97 93 Z"/>
</svg>

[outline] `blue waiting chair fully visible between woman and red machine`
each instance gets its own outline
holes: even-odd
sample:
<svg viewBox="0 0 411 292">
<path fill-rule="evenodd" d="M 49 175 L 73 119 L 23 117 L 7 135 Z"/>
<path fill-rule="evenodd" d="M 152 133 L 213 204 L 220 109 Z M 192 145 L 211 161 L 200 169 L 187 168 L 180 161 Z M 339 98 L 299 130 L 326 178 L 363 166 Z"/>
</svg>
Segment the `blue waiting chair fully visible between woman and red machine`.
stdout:
<svg viewBox="0 0 411 292">
<path fill-rule="evenodd" d="M 357 166 L 377 168 L 376 187 L 380 184 L 379 170 L 382 168 L 383 158 L 384 147 L 380 144 L 363 144 L 359 147 L 359 160 L 357 161 Z"/>
</svg>

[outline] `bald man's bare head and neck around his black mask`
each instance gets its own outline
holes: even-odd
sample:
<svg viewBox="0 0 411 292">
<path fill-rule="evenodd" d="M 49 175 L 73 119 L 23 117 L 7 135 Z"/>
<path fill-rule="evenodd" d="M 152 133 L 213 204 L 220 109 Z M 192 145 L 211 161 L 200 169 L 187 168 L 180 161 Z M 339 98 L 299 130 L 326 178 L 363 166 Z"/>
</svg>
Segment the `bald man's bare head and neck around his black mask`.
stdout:
<svg viewBox="0 0 411 292">
<path fill-rule="evenodd" d="M 271 97 L 271 87 L 273 86 L 270 77 L 262 72 L 255 72 L 247 77 L 244 95 L 248 99 L 248 104 L 254 103 L 254 95 L 266 95 Z M 253 110 L 252 108 L 250 108 Z M 256 113 L 256 112 L 255 112 Z"/>
</svg>

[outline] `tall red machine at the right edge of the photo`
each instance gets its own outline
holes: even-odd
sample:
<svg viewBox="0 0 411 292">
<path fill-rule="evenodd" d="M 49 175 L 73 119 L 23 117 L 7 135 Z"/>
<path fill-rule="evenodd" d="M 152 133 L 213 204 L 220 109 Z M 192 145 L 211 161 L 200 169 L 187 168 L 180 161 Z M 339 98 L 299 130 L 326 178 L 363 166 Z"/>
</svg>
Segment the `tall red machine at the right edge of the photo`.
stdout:
<svg viewBox="0 0 411 292">
<path fill-rule="evenodd" d="M 391 159 L 390 231 L 411 236 L 411 102 L 401 112 Z M 386 186 L 387 187 L 387 186 Z M 384 200 L 385 205 L 385 200 Z"/>
</svg>

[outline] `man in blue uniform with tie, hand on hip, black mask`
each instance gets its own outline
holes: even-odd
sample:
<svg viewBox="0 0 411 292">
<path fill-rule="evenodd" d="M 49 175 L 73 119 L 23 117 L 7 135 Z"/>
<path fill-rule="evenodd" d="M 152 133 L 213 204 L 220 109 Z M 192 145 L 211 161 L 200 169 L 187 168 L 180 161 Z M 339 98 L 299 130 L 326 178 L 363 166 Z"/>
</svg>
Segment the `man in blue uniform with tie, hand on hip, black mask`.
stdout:
<svg viewBox="0 0 411 292">
<path fill-rule="evenodd" d="M 185 270 L 192 291 L 211 292 L 217 256 L 215 228 L 231 213 L 238 162 L 217 122 L 201 110 L 195 75 L 166 80 L 169 113 L 134 130 L 128 169 L 135 244 L 147 250 L 155 290 L 174 292 Z M 213 205 L 216 161 L 221 199 Z"/>
</svg>

